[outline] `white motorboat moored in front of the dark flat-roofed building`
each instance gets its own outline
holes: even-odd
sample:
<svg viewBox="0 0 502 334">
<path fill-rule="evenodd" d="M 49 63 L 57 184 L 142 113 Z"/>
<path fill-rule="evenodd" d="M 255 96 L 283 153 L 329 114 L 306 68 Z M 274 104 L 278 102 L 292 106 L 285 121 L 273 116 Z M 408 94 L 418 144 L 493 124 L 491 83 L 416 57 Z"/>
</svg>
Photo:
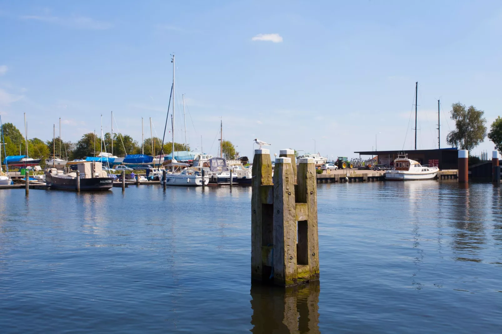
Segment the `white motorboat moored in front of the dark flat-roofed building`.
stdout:
<svg viewBox="0 0 502 334">
<path fill-rule="evenodd" d="M 421 165 L 420 162 L 409 159 L 408 154 L 398 155 L 394 160 L 394 168 L 385 173 L 386 180 L 430 180 L 439 172 L 437 166 Z"/>
</svg>

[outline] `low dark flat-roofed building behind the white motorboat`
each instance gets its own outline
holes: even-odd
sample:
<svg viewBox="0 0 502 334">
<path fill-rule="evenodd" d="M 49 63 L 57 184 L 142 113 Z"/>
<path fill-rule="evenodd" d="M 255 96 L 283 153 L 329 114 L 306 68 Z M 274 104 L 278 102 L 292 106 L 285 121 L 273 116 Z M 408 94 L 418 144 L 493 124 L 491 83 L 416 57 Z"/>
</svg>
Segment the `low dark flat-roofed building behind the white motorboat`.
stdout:
<svg viewBox="0 0 502 334">
<path fill-rule="evenodd" d="M 408 154 L 408 158 L 418 161 L 421 164 L 435 164 L 440 170 L 458 169 L 458 149 L 417 149 L 417 150 L 396 150 L 396 151 L 361 151 L 354 152 L 359 155 L 378 155 L 378 164 L 394 165 L 394 159 L 398 154 Z"/>
</svg>

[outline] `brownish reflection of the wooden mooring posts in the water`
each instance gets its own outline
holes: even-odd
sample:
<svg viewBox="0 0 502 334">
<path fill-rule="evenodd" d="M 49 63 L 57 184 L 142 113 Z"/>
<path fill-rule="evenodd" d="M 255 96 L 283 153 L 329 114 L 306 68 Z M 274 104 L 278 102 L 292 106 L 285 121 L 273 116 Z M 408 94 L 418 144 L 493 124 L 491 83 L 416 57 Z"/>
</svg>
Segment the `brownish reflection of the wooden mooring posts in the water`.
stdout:
<svg viewBox="0 0 502 334">
<path fill-rule="evenodd" d="M 253 284 L 251 298 L 251 332 L 320 333 L 319 281 L 288 288 Z"/>
</svg>

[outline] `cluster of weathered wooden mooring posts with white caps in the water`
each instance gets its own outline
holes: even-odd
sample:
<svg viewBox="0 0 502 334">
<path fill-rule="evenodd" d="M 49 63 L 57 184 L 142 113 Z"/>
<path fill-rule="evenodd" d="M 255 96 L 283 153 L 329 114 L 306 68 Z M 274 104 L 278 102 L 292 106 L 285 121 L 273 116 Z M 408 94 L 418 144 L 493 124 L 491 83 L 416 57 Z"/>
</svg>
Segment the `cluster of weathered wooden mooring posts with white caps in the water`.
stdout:
<svg viewBox="0 0 502 334">
<path fill-rule="evenodd" d="M 296 178 L 293 164 L 290 157 L 276 158 L 272 180 L 270 151 L 255 150 L 251 204 L 254 281 L 291 286 L 319 279 L 315 163 L 312 158 L 301 158 Z"/>
</svg>

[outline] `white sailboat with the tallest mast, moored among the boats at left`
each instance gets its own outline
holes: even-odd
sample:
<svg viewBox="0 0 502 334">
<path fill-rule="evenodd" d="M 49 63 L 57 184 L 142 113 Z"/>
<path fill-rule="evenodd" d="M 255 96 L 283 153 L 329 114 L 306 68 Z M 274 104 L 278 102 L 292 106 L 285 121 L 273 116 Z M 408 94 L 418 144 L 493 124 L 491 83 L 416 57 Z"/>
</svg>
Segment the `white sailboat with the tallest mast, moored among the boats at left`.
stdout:
<svg viewBox="0 0 502 334">
<path fill-rule="evenodd" d="M 171 124 L 172 124 L 172 151 L 171 151 L 171 160 L 168 162 L 164 160 L 164 165 L 166 167 L 172 168 L 172 172 L 166 175 L 166 184 L 171 185 L 171 186 L 202 186 L 202 183 L 204 185 L 207 185 L 209 183 L 209 178 L 202 178 L 202 174 L 199 171 L 191 171 L 188 169 L 183 170 L 182 173 L 174 173 L 174 170 L 176 167 L 188 167 L 189 165 L 187 163 L 181 163 L 176 161 L 174 158 L 174 97 L 175 97 L 175 91 L 174 91 L 174 72 L 175 72 L 175 60 L 174 60 L 174 55 L 173 58 L 171 59 L 171 62 L 173 63 L 173 112 L 171 114 Z M 169 111 L 168 111 L 169 112 Z M 186 139 L 185 139 L 186 141 Z M 166 163 L 167 162 L 167 163 Z"/>
</svg>

